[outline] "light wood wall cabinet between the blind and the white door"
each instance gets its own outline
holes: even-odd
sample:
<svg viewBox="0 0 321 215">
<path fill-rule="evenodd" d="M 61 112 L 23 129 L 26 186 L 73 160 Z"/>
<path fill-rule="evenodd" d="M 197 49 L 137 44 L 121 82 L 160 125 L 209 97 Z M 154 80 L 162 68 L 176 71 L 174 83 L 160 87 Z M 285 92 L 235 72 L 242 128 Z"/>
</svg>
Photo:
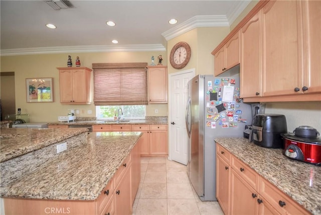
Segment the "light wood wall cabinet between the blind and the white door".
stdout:
<svg viewBox="0 0 321 215">
<path fill-rule="evenodd" d="M 167 103 L 168 83 L 167 66 L 147 66 L 148 69 L 148 103 Z"/>
</svg>

